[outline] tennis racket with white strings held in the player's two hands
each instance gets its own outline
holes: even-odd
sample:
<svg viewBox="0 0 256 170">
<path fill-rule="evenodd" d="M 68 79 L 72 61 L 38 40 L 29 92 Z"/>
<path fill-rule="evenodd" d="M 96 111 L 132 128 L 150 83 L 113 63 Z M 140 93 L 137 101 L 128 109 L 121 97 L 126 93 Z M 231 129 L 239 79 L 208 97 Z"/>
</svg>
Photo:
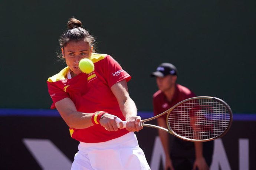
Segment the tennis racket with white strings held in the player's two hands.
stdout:
<svg viewBox="0 0 256 170">
<path fill-rule="evenodd" d="M 164 114 L 167 114 L 168 129 L 145 123 Z M 116 119 L 118 127 L 121 121 Z M 198 96 L 181 101 L 157 116 L 141 120 L 140 126 L 161 129 L 183 140 L 206 142 L 227 133 L 232 121 L 232 110 L 226 102 L 215 97 Z M 126 123 L 123 121 L 124 128 Z"/>
</svg>

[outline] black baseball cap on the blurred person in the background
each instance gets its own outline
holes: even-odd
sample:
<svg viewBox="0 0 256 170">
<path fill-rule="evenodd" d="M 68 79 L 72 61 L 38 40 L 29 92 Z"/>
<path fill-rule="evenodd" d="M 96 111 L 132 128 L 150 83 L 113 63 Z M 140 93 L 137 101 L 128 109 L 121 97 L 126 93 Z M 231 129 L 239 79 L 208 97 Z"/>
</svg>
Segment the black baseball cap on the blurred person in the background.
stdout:
<svg viewBox="0 0 256 170">
<path fill-rule="evenodd" d="M 177 74 L 178 70 L 173 64 L 164 62 L 157 67 L 157 71 L 151 73 L 151 77 L 164 77 Z"/>
</svg>

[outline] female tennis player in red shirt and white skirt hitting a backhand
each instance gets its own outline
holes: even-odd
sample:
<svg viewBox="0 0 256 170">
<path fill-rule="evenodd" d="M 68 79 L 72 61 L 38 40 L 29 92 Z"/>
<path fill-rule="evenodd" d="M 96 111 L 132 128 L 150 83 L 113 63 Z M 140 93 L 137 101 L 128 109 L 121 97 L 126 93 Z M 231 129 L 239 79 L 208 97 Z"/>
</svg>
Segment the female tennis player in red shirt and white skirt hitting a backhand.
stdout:
<svg viewBox="0 0 256 170">
<path fill-rule="evenodd" d="M 81 21 L 70 18 L 68 28 L 59 40 L 67 67 L 50 77 L 47 85 L 51 108 L 59 111 L 71 137 L 80 142 L 71 169 L 150 169 L 134 134 L 142 127 L 128 93 L 131 76 L 110 55 L 94 53 L 95 40 Z M 92 73 L 81 72 L 82 58 L 93 61 Z M 121 122 L 118 129 L 117 117 L 128 121 L 126 128 Z"/>
</svg>

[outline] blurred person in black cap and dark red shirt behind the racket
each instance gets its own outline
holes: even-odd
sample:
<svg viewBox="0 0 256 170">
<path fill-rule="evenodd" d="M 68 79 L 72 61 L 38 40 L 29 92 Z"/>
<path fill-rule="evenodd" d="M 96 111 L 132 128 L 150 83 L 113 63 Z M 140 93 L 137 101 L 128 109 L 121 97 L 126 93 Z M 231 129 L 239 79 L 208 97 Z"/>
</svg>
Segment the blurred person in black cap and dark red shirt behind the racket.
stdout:
<svg viewBox="0 0 256 170">
<path fill-rule="evenodd" d="M 158 115 L 171 108 L 178 102 L 195 97 L 188 88 L 177 84 L 177 68 L 171 63 L 162 63 L 155 72 L 158 91 L 153 95 L 154 115 Z M 166 114 L 157 119 L 158 126 L 167 128 Z M 158 130 L 165 152 L 165 170 L 208 170 L 213 153 L 213 141 L 188 142 L 174 137 L 163 130 Z M 205 145 L 205 146 L 204 146 Z"/>
</svg>

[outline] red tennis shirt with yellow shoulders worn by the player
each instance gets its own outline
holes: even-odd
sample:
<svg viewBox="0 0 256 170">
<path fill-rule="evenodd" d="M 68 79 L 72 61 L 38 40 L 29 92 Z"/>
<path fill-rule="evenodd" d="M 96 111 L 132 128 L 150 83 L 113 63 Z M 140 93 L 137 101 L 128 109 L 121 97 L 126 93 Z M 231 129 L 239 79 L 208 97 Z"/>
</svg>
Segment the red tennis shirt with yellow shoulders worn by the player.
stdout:
<svg viewBox="0 0 256 170">
<path fill-rule="evenodd" d="M 55 108 L 56 102 L 70 98 L 79 112 L 105 111 L 125 120 L 110 88 L 124 79 L 128 82 L 131 76 L 110 55 L 93 53 L 91 60 L 95 66 L 91 74 L 81 73 L 68 79 L 69 68 L 66 67 L 48 78 L 48 91 L 53 101 L 51 109 Z M 105 142 L 128 133 L 126 129 L 108 132 L 101 125 L 69 130 L 73 139 L 87 143 Z"/>
</svg>

